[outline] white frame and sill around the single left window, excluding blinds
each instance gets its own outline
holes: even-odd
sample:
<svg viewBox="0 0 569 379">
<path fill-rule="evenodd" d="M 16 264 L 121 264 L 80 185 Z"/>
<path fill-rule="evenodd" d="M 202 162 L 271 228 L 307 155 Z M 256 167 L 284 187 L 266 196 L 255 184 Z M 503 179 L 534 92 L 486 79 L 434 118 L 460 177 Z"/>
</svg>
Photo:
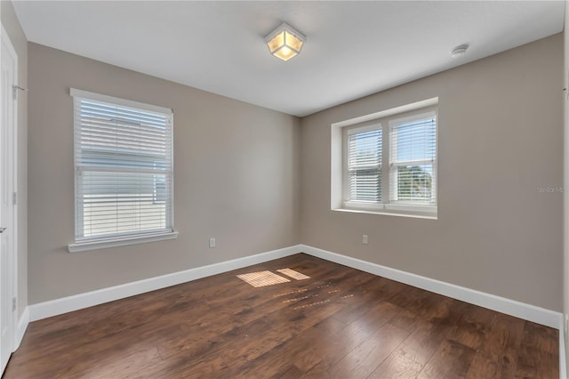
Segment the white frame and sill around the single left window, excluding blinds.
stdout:
<svg viewBox="0 0 569 379">
<path fill-rule="evenodd" d="M 167 108 L 159 107 L 156 105 L 145 104 L 145 103 L 141 103 L 138 101 L 129 101 L 129 100 L 125 100 L 125 99 L 120 99 L 120 98 L 116 98 L 116 97 L 112 97 L 112 96 L 108 96 L 108 95 L 103 95 L 100 93 L 90 93 L 90 92 L 86 92 L 86 91 L 77 90 L 75 88 L 70 88 L 69 93 L 73 97 L 73 100 L 74 100 L 74 112 L 76 112 L 77 101 L 82 101 L 82 100 L 97 101 L 97 102 L 107 103 L 110 105 L 116 105 L 118 107 L 124 107 L 126 109 L 129 109 L 129 108 L 130 109 L 140 109 L 140 110 L 146 110 L 146 111 L 150 111 L 150 112 L 168 115 L 171 118 L 171 122 L 173 124 L 173 111 L 172 111 L 172 109 L 167 109 Z M 80 122 L 81 122 L 80 119 L 76 115 L 74 117 L 74 130 L 75 131 L 77 131 L 80 128 L 80 125 L 77 124 Z M 173 133 L 173 127 L 171 127 L 171 133 Z M 169 202 L 170 207 L 167 207 L 167 209 L 165 210 L 165 212 L 166 212 L 165 215 L 166 215 L 166 220 L 167 220 L 166 223 L 168 225 L 166 230 L 148 231 L 148 232 L 140 231 L 140 233 L 128 233 L 125 235 L 119 234 L 119 235 L 110 236 L 110 237 L 99 237 L 99 236 L 94 236 L 94 237 L 89 237 L 89 238 L 76 237 L 76 240 L 74 241 L 74 243 L 71 243 L 68 245 L 68 251 L 70 253 L 81 252 L 81 251 L 92 250 L 92 249 L 107 248 L 107 247 L 133 245 L 133 244 L 139 244 L 139 243 L 145 243 L 145 242 L 154 242 L 154 241 L 160 241 L 160 240 L 164 240 L 164 239 L 172 239 L 172 238 L 178 237 L 178 231 L 173 229 L 174 217 L 173 217 L 173 139 L 172 139 L 172 135 L 170 136 L 170 141 L 172 143 L 172 145 L 170 147 L 170 153 L 172 154 L 172 157 L 170 157 L 171 162 L 172 162 L 172 165 L 170 167 L 171 187 L 172 188 L 171 188 L 171 191 L 169 194 L 171 196 L 171 201 Z M 77 142 L 78 142 L 78 139 L 77 139 L 77 135 L 76 135 L 74 145 L 76 145 Z M 76 146 L 75 146 L 74 150 L 75 151 L 77 150 Z M 77 175 L 79 174 L 79 171 L 80 171 L 80 167 L 77 166 L 76 159 L 77 159 L 77 157 L 74 158 L 75 175 L 76 175 L 75 186 L 78 185 Z M 168 203 L 168 202 L 166 202 L 166 203 Z M 82 228 L 83 209 L 81 206 L 81 202 L 78 201 L 77 198 L 75 198 L 75 205 L 76 205 L 75 206 L 75 209 L 76 209 L 75 210 L 75 212 L 76 212 L 75 220 L 76 220 L 76 236 L 77 236 L 77 234 L 78 234 L 77 230 L 80 230 Z"/>
</svg>

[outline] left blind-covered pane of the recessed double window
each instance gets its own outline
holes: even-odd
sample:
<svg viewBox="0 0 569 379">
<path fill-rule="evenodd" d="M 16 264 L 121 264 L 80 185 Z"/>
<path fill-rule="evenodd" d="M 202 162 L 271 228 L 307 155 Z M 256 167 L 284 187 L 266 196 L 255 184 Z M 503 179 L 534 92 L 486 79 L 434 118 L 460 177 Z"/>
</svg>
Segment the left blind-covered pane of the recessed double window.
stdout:
<svg viewBox="0 0 569 379">
<path fill-rule="evenodd" d="M 381 203 L 380 127 L 348 132 L 348 201 Z"/>
</svg>

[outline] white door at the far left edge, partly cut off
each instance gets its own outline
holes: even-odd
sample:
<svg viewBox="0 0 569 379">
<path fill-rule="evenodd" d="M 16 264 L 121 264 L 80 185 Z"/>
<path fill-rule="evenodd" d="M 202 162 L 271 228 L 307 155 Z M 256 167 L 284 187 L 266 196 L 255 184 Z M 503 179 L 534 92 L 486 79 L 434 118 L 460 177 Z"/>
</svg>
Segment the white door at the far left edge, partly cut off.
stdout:
<svg viewBox="0 0 569 379">
<path fill-rule="evenodd" d="M 2 109 L 0 119 L 0 368 L 10 359 L 14 347 L 16 310 L 16 107 L 18 57 L 2 28 L 0 52 Z"/>
</svg>

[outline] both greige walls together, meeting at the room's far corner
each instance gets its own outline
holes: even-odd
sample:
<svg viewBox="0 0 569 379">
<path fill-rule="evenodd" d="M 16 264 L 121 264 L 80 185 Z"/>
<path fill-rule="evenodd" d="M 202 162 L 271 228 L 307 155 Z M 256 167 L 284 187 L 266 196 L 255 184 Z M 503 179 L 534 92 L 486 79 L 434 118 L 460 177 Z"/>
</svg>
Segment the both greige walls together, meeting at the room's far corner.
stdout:
<svg viewBox="0 0 569 379">
<path fill-rule="evenodd" d="M 562 35 L 301 121 L 38 44 L 28 54 L 29 303 L 303 243 L 562 309 L 563 195 L 539 191 L 563 185 Z M 174 109 L 178 239 L 67 253 L 69 87 Z M 438 220 L 331 211 L 330 125 L 435 96 Z"/>
</svg>

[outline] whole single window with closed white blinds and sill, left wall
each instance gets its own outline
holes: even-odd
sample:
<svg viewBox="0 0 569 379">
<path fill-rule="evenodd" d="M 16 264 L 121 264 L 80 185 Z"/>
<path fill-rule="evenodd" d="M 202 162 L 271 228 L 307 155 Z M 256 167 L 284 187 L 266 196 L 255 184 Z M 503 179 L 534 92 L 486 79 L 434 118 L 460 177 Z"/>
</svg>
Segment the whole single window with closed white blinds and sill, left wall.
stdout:
<svg viewBox="0 0 569 379">
<path fill-rule="evenodd" d="M 76 241 L 69 251 L 175 238 L 172 109 L 71 95 Z"/>
</svg>

